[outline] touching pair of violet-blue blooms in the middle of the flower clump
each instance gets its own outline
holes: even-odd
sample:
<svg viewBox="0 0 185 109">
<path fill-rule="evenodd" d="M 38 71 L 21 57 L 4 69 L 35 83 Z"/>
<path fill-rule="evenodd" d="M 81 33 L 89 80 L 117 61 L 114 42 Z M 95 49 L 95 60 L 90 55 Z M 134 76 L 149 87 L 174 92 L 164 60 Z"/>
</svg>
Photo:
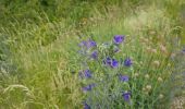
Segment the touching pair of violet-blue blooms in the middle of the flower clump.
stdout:
<svg viewBox="0 0 185 109">
<path fill-rule="evenodd" d="M 103 63 L 111 66 L 111 68 L 118 68 L 119 66 L 119 61 L 116 61 L 115 59 L 111 59 L 109 57 L 106 60 L 103 60 Z"/>
</svg>

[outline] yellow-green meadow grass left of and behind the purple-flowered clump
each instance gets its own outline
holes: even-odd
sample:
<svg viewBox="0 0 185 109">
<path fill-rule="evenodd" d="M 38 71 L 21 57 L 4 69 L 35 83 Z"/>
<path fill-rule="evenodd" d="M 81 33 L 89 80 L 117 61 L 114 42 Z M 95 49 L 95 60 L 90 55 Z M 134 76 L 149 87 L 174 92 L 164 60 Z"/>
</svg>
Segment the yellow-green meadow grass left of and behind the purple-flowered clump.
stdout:
<svg viewBox="0 0 185 109">
<path fill-rule="evenodd" d="M 78 37 L 147 37 L 171 51 L 172 37 L 184 37 L 177 1 L 0 1 L 0 108 L 82 108 Z"/>
</svg>

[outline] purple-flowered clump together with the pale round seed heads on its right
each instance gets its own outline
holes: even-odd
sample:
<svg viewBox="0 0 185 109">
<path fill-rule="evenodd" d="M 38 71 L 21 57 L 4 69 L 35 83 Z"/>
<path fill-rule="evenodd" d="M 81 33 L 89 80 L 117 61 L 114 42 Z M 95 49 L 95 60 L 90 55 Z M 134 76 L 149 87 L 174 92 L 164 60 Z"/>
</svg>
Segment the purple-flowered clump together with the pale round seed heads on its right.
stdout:
<svg viewBox="0 0 185 109">
<path fill-rule="evenodd" d="M 146 44 L 130 38 L 115 35 L 104 44 L 92 39 L 79 43 L 78 76 L 85 109 L 149 109 L 162 107 L 168 99 L 169 56 L 158 48 L 148 50 L 153 46 L 152 41 L 147 45 L 149 39 L 143 38 Z M 138 48 L 132 49 L 132 45 Z"/>
</svg>

